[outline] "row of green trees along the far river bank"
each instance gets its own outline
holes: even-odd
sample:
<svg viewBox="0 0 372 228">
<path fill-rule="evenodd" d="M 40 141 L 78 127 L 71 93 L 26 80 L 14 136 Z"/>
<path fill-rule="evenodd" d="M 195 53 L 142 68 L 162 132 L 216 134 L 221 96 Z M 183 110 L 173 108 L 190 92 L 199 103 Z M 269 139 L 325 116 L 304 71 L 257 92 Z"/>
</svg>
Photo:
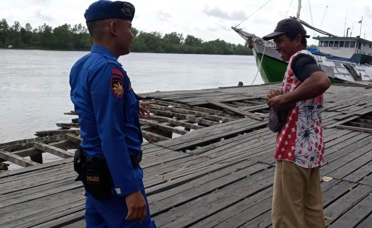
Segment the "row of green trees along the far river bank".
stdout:
<svg viewBox="0 0 372 228">
<path fill-rule="evenodd" d="M 191 54 L 240 54 L 252 55 L 252 50 L 241 44 L 216 39 L 204 42 L 200 38 L 175 31 L 165 33 L 144 32 L 131 28 L 133 52 L 191 53 Z M 33 28 L 29 23 L 24 27 L 18 21 L 9 26 L 6 19 L 0 20 L 0 47 L 43 48 L 62 50 L 89 50 L 92 40 L 87 28 L 81 23 L 71 26 L 63 24 L 52 28 L 47 24 Z"/>
</svg>

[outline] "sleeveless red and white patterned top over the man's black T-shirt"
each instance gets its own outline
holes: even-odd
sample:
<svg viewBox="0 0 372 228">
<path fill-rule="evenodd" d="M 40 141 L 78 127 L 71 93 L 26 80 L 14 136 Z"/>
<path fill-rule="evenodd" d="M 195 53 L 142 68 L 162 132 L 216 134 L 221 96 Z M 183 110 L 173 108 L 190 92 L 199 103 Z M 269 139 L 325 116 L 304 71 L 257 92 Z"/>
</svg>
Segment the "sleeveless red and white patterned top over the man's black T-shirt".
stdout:
<svg viewBox="0 0 372 228">
<path fill-rule="evenodd" d="M 281 83 L 284 93 L 290 92 L 301 84 L 294 75 L 291 63 L 298 54 L 312 54 L 300 50 L 293 54 Z M 288 111 L 286 124 L 277 134 L 275 159 L 288 160 L 299 166 L 312 168 L 323 162 L 324 140 L 321 129 L 321 109 L 323 94 L 318 97 L 298 101 Z"/>
</svg>

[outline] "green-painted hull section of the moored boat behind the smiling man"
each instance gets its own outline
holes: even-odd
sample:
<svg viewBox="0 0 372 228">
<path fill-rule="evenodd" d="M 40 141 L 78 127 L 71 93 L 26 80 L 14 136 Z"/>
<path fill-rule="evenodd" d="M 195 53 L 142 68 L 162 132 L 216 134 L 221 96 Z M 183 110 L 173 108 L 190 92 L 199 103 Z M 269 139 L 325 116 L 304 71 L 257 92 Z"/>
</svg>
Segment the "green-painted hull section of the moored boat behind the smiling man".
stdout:
<svg viewBox="0 0 372 228">
<path fill-rule="evenodd" d="M 261 66 L 259 66 L 259 62 L 261 61 Z M 263 55 L 261 53 L 256 54 L 256 63 L 257 67 L 259 68 L 259 73 L 261 74 L 262 80 L 265 83 L 271 82 L 281 82 L 283 80 L 283 76 L 285 74 L 286 67 L 288 65 L 287 62 L 278 60 L 276 58 Z M 330 83 L 335 84 L 342 82 L 341 80 L 333 80 L 329 78 Z"/>
</svg>

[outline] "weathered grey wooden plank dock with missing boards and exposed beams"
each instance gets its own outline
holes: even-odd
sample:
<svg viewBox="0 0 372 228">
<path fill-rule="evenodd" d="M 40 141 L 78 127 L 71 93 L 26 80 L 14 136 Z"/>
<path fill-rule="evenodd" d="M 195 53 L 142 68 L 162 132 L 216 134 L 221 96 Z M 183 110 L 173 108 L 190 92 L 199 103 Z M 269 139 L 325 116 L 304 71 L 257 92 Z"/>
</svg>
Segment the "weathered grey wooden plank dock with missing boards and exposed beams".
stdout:
<svg viewBox="0 0 372 228">
<path fill-rule="evenodd" d="M 320 181 L 328 227 L 372 227 L 369 83 L 332 85 L 324 95 L 320 174 L 332 179 Z M 141 166 L 157 227 L 271 227 L 276 135 L 267 128 L 264 97 L 279 86 L 140 94 L 157 100 L 152 116 L 141 118 L 144 137 L 154 142 L 143 144 Z M 1 161 L 24 166 L 0 172 L 1 227 L 84 226 L 84 190 L 72 168 L 81 140 L 73 117 L 58 130 L 0 144 Z M 63 159 L 40 164 L 42 152 Z"/>
</svg>

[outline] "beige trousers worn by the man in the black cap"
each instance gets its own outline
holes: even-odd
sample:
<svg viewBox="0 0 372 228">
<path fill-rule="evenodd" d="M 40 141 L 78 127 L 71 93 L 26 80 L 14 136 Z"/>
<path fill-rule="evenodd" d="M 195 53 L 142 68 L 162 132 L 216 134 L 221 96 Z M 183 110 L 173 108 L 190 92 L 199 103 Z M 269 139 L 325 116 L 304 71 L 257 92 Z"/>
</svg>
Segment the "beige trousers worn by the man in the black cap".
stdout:
<svg viewBox="0 0 372 228">
<path fill-rule="evenodd" d="M 276 160 L 272 228 L 324 228 L 319 167 Z"/>
</svg>

